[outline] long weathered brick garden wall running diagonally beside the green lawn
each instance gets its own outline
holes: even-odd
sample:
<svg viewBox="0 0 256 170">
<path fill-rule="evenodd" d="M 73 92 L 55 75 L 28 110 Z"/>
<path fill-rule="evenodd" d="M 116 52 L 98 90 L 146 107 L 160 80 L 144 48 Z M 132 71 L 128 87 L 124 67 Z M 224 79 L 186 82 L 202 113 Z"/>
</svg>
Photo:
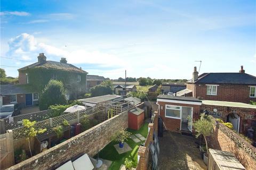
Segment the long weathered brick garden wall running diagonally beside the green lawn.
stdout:
<svg viewBox="0 0 256 170">
<path fill-rule="evenodd" d="M 104 148 L 113 136 L 121 129 L 128 128 L 128 112 L 116 115 L 93 128 L 76 135 L 34 157 L 31 157 L 9 169 L 55 169 L 79 154 L 87 153 L 89 156 L 97 154 Z"/>
</svg>

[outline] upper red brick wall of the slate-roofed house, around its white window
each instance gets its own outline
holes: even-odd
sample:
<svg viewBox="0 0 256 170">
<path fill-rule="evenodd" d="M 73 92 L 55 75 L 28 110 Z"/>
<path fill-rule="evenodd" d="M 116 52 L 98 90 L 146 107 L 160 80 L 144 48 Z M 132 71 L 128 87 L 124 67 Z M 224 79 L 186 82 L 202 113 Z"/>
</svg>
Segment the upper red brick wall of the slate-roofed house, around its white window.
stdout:
<svg viewBox="0 0 256 170">
<path fill-rule="evenodd" d="M 205 84 L 187 84 L 187 89 L 193 91 L 193 97 L 202 97 L 204 100 L 234 101 L 249 103 L 250 100 L 256 101 L 256 98 L 250 98 L 250 87 L 243 84 L 218 84 L 217 95 L 206 95 Z M 196 87 L 196 91 L 194 91 Z"/>
</svg>

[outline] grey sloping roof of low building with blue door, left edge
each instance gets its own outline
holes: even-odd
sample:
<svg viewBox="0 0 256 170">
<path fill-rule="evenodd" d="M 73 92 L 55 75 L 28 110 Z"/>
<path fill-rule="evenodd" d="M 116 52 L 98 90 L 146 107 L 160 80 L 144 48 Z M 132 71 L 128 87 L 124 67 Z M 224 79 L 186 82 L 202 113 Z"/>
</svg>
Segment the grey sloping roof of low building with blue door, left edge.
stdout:
<svg viewBox="0 0 256 170">
<path fill-rule="evenodd" d="M 37 91 L 28 85 L 8 84 L 8 85 L 0 86 L 0 95 L 1 96 L 15 95 L 15 94 L 27 94 L 27 93 L 33 93 L 33 92 L 37 92 Z"/>
</svg>

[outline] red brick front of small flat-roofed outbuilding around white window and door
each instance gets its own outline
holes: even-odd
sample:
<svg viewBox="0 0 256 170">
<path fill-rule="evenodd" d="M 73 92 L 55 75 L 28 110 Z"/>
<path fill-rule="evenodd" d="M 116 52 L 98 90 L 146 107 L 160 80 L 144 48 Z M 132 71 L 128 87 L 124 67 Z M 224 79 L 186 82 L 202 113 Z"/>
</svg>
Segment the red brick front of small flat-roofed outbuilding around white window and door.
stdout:
<svg viewBox="0 0 256 170">
<path fill-rule="evenodd" d="M 167 102 L 162 102 L 162 101 L 158 101 L 158 104 L 160 105 L 159 115 L 162 117 L 164 124 L 166 126 L 166 129 L 169 131 L 180 131 L 181 120 L 165 117 L 165 105 L 193 107 L 193 120 L 194 121 L 197 120 L 200 115 L 200 106 L 199 105 L 177 104 L 177 103 L 171 103 L 171 102 L 167 103 Z M 163 107 L 163 109 L 161 109 L 161 106 Z"/>
</svg>

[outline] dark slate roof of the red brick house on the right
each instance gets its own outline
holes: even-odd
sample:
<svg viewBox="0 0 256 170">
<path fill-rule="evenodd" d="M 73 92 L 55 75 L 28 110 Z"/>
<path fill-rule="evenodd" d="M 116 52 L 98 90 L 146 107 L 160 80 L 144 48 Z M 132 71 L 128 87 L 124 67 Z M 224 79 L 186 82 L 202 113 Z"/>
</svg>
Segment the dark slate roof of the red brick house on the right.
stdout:
<svg viewBox="0 0 256 170">
<path fill-rule="evenodd" d="M 192 80 L 187 83 L 192 83 Z M 256 84 L 256 77 L 246 73 L 203 73 L 199 75 L 195 83 L 218 83 L 218 84 Z"/>
</svg>

